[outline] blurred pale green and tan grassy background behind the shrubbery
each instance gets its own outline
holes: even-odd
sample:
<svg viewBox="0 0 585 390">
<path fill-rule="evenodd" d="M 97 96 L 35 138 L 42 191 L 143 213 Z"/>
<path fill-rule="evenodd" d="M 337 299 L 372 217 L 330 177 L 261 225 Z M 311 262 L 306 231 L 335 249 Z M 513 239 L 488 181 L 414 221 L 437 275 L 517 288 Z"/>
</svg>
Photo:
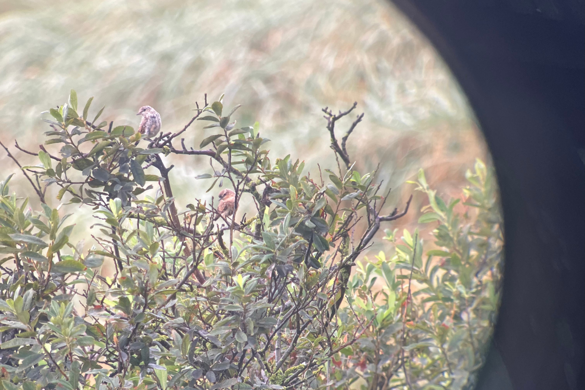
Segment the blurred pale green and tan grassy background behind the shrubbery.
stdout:
<svg viewBox="0 0 585 390">
<path fill-rule="evenodd" d="M 449 198 L 460 196 L 477 157 L 489 160 L 448 68 L 381 0 L 4 0 L 0 52 L 0 139 L 10 146 L 17 139 L 37 150 L 47 130 L 40 113 L 66 102 L 70 89 L 80 106 L 95 96 L 90 116 L 105 105 L 101 119 L 135 129 L 137 110 L 151 105 L 164 132 L 180 130 L 205 93 L 210 102 L 225 93 L 226 108 L 243 105 L 233 117 L 238 125 L 258 120 L 261 134 L 273 140 L 272 161 L 290 153 L 314 174 L 317 163 L 336 167 L 321 109 L 345 110 L 357 101 L 338 132 L 365 113 L 348 150 L 362 172 L 380 163 L 379 178 L 393 188 L 388 210 L 404 205 L 412 192 L 405 181 L 419 168 Z M 203 126 L 190 127 L 187 146 L 197 148 L 211 134 Z M 209 172 L 208 158 L 171 159 L 180 210 L 194 197 L 216 195 L 205 194 L 211 181 L 194 180 Z M 17 170 L 4 153 L 0 161 L 3 176 Z M 22 176 L 12 187 L 31 191 Z M 426 202 L 415 195 L 412 212 L 392 227 L 416 225 Z"/>
</svg>

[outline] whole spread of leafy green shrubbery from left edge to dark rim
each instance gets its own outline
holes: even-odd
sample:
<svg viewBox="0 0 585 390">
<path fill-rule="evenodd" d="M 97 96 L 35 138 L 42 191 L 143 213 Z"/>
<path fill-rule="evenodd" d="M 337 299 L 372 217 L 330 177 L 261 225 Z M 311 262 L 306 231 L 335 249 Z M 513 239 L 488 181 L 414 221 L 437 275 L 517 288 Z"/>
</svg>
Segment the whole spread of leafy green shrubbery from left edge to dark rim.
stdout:
<svg viewBox="0 0 585 390">
<path fill-rule="evenodd" d="M 290 156 L 271 161 L 257 123 L 236 128 L 230 118 L 238 106 L 226 114 L 222 99 L 208 105 L 206 96 L 183 130 L 152 140 L 130 126 L 98 123 L 103 109 L 90 122 L 91 101 L 79 115 L 71 91 L 68 103 L 50 109 L 45 144 L 60 144 L 58 152 L 26 151 L 40 160 L 22 172 L 42 210 L 10 194 L 12 176 L 0 184 L 2 388 L 473 382 L 500 277 L 495 184 L 483 164 L 465 190 L 477 218 L 455 213 L 456 201 L 447 206 L 419 174 L 418 189 L 431 203 L 419 222 L 438 223 L 439 249 L 427 250 L 424 264 L 423 240 L 406 231 L 402 243 L 387 231 L 390 260 L 362 261 L 380 227 L 408 212 L 412 196 L 384 215 L 376 172 L 353 168 L 346 142 L 363 114 L 340 140 L 335 125 L 356 105 L 339 114 L 324 109 L 338 167 L 311 176 Z M 197 150 L 183 140 L 177 148 L 195 120 L 218 133 Z M 212 169 L 198 179 L 212 182 L 208 191 L 232 188 L 233 212 L 221 211 L 229 197 L 179 211 L 170 154 L 208 156 Z M 101 234 L 85 237 L 90 250 L 70 242 L 68 215 L 47 204 L 51 185 L 60 188 L 59 201 L 97 219 Z M 245 203 L 255 215 L 236 221 Z M 364 233 L 356 236 L 356 227 Z M 115 266 L 108 277 L 100 274 L 105 261 Z M 374 292 L 379 276 L 386 287 Z"/>
</svg>

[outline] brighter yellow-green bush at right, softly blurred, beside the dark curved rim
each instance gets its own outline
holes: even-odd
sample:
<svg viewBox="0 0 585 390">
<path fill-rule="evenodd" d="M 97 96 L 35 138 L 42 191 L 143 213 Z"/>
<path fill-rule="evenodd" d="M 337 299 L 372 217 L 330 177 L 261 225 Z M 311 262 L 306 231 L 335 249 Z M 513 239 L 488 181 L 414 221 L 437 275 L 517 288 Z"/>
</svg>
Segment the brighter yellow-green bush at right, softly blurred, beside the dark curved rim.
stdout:
<svg viewBox="0 0 585 390">
<path fill-rule="evenodd" d="M 414 184 L 429 205 L 418 222 L 436 225 L 434 245 L 418 229 L 404 230 L 400 240 L 386 230 L 394 253 L 357 263 L 339 317 L 343 332 L 369 326 L 332 356 L 336 388 L 474 387 L 499 303 L 503 234 L 493 171 L 478 160 L 466 177 L 462 215 L 455 212 L 460 198 L 446 202 L 419 171 Z M 378 278 L 384 286 L 373 291 Z"/>
</svg>

